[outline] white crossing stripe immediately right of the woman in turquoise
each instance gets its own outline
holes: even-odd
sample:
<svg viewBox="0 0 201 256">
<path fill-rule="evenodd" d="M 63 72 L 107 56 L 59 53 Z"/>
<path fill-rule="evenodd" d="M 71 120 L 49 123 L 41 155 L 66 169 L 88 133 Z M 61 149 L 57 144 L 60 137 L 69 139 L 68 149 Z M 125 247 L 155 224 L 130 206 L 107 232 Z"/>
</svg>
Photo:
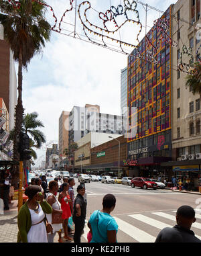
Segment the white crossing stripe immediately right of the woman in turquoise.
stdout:
<svg viewBox="0 0 201 256">
<path fill-rule="evenodd" d="M 147 232 L 144 232 L 143 230 L 136 228 L 135 226 L 121 220 L 120 218 L 115 217 L 115 220 L 117 221 L 119 229 L 128 234 L 136 241 L 140 243 L 155 242 L 155 237 L 151 236 L 151 234 L 148 234 Z"/>
</svg>

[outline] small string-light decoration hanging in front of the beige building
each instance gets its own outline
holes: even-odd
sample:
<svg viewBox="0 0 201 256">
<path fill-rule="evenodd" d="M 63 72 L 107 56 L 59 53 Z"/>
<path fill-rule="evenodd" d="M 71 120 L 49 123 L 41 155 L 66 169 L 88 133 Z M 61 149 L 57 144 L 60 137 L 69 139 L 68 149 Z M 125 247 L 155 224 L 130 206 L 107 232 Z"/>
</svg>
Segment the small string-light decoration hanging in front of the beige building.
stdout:
<svg viewBox="0 0 201 256">
<path fill-rule="evenodd" d="M 187 55 L 189 56 L 190 60 L 189 60 L 189 64 L 183 62 L 183 56 Z M 178 69 L 179 71 L 182 71 L 186 74 L 190 74 L 190 75 L 196 75 L 198 73 L 198 70 L 194 67 L 194 56 L 192 54 L 192 48 L 188 47 L 186 45 L 183 45 L 182 47 L 182 52 L 180 54 L 180 60 L 178 63 Z"/>
</svg>

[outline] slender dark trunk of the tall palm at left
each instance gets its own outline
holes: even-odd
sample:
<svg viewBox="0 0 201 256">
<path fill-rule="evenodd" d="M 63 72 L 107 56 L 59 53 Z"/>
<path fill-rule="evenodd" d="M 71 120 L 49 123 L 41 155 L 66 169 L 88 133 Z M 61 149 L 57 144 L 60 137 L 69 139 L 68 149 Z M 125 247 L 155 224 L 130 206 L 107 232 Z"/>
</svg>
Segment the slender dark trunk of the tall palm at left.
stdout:
<svg viewBox="0 0 201 256">
<path fill-rule="evenodd" d="M 15 107 L 15 133 L 14 133 L 14 146 L 13 146 L 13 160 L 19 161 L 20 155 L 19 150 L 17 148 L 17 136 L 19 136 L 21 132 L 21 124 L 23 118 L 23 105 L 22 105 L 22 50 L 19 50 L 19 63 L 18 63 L 18 98 L 17 105 Z M 16 184 L 19 180 L 19 173 L 15 173 L 13 177 L 13 184 Z M 17 180 L 17 181 L 16 181 Z"/>
</svg>

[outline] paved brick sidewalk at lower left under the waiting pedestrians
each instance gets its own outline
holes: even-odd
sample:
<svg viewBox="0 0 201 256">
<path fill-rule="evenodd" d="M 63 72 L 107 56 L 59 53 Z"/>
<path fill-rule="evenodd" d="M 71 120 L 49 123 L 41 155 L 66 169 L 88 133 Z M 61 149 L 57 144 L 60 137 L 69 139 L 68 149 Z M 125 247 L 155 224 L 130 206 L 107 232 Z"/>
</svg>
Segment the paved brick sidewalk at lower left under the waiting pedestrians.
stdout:
<svg viewBox="0 0 201 256">
<path fill-rule="evenodd" d="M 0 243 L 17 243 L 17 204 L 18 200 L 11 201 L 11 204 L 9 204 L 9 210 L 4 211 L 3 215 L 0 214 Z M 64 237 L 63 232 L 62 237 Z M 58 233 L 56 233 L 56 236 L 54 237 L 54 243 L 58 243 Z M 63 241 L 63 243 L 74 242 Z"/>
</svg>

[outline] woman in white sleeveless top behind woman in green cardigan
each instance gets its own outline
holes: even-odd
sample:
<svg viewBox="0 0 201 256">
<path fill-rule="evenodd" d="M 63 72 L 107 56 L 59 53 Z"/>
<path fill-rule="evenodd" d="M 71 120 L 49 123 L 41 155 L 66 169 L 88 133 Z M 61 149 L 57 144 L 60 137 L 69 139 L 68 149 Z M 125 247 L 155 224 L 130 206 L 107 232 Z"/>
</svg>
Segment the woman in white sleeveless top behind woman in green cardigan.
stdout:
<svg viewBox="0 0 201 256">
<path fill-rule="evenodd" d="M 62 214 L 62 208 L 60 202 L 56 198 L 55 194 L 58 191 L 58 182 L 57 181 L 50 181 L 49 185 L 49 193 L 47 195 L 47 202 L 52 206 L 52 214 Z M 52 224 L 52 214 L 47 214 L 48 222 Z M 62 222 L 58 224 L 52 224 L 53 231 L 52 234 L 48 233 L 48 243 L 54 243 L 54 237 L 56 232 L 58 232 L 59 239 L 58 242 L 62 243 Z"/>
</svg>

